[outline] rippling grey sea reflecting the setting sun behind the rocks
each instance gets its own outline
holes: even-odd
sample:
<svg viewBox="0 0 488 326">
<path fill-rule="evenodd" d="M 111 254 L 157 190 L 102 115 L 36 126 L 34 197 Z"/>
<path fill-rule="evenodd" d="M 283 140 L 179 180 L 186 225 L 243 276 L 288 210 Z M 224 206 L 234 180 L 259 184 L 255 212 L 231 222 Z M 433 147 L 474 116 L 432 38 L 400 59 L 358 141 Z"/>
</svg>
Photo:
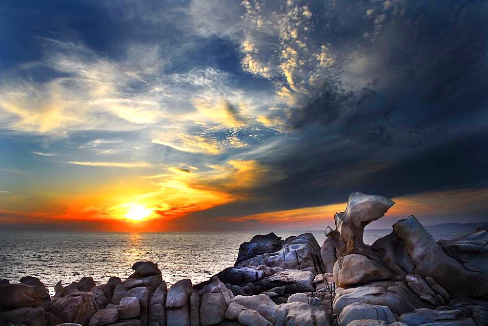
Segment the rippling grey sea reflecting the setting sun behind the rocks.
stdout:
<svg viewBox="0 0 488 326">
<path fill-rule="evenodd" d="M 428 228 L 435 240 L 453 239 L 474 228 Z M 312 233 L 320 245 L 323 231 L 275 232 L 288 236 Z M 372 244 L 391 229 L 365 230 L 364 241 Z M 268 233 L 268 232 L 261 232 Z M 91 276 L 103 284 L 111 276 L 122 279 L 133 271 L 136 261 L 158 263 L 168 285 L 183 278 L 193 284 L 208 280 L 233 266 L 239 245 L 253 232 L 178 232 L 178 233 L 92 233 L 92 232 L 0 232 L 0 279 L 19 282 L 35 276 L 54 294 L 54 285 Z"/>
</svg>

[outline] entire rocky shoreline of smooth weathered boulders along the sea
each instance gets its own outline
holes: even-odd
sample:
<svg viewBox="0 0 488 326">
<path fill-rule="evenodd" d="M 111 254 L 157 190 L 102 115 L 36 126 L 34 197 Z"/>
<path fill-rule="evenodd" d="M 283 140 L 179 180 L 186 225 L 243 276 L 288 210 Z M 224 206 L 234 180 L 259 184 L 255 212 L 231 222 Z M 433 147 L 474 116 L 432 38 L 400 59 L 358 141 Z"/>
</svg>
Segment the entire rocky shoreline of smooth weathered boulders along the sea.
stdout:
<svg viewBox="0 0 488 326">
<path fill-rule="evenodd" d="M 60 281 L 53 297 L 32 276 L 0 280 L 0 326 L 488 325 L 488 228 L 435 242 L 410 216 L 365 245 L 365 226 L 393 204 L 352 193 L 323 245 L 310 233 L 257 235 L 197 285 L 168 289 L 152 262 L 124 281 Z"/>
</svg>

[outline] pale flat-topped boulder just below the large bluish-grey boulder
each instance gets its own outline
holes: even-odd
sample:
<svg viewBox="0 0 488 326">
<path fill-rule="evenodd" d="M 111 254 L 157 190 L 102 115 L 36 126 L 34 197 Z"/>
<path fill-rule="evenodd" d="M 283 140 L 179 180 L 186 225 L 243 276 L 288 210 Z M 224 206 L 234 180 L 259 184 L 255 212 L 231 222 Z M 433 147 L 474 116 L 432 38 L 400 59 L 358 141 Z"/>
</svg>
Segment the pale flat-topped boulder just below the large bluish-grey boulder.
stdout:
<svg viewBox="0 0 488 326">
<path fill-rule="evenodd" d="M 305 270 L 285 270 L 264 278 L 264 286 L 267 289 L 284 286 L 286 292 L 313 292 L 315 276 Z"/>
</svg>

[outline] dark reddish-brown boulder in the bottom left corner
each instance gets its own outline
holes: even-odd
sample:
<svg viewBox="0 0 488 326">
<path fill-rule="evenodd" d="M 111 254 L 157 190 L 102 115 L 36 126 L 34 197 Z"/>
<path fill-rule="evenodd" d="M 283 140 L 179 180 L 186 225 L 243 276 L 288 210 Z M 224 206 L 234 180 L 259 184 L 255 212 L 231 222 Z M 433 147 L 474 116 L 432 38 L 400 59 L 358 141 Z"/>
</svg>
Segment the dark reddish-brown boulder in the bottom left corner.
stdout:
<svg viewBox="0 0 488 326">
<path fill-rule="evenodd" d="M 47 312 L 44 307 L 24 307 L 0 312 L 0 323 L 9 325 L 55 326 L 61 320 Z"/>
</svg>

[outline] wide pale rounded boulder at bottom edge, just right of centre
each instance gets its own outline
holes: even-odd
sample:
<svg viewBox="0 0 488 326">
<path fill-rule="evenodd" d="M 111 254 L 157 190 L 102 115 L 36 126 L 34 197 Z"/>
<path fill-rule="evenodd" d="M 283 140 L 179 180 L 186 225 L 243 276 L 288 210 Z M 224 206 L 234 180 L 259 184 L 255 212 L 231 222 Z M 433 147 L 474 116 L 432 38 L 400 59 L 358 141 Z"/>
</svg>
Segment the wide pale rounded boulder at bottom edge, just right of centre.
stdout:
<svg viewBox="0 0 488 326">
<path fill-rule="evenodd" d="M 325 309 L 307 305 L 303 302 L 292 302 L 280 305 L 282 313 L 277 315 L 277 325 L 328 326 L 330 318 Z"/>
</svg>

